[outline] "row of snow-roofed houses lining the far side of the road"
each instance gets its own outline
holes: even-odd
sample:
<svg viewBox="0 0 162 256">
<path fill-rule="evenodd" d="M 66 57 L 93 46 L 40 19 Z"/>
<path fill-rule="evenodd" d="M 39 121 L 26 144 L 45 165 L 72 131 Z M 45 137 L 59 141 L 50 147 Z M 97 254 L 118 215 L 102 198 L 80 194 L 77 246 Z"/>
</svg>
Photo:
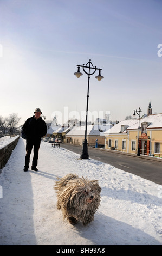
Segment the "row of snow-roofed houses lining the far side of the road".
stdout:
<svg viewBox="0 0 162 256">
<path fill-rule="evenodd" d="M 82 145 L 85 126 L 60 127 L 53 132 L 53 137 L 65 143 Z M 87 126 L 89 147 L 95 147 L 97 142 L 98 147 L 137 154 L 138 137 L 140 154 L 162 157 L 162 114 L 124 120 L 115 125 L 98 123 Z"/>
</svg>

